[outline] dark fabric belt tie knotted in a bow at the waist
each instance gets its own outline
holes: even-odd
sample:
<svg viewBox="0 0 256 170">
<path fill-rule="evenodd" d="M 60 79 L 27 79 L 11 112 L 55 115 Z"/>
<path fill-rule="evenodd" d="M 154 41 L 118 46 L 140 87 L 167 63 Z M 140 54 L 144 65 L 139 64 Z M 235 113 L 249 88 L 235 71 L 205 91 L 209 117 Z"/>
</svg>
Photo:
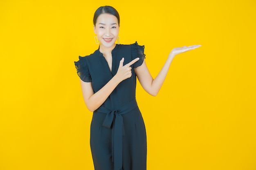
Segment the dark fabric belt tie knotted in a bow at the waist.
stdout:
<svg viewBox="0 0 256 170">
<path fill-rule="evenodd" d="M 106 113 L 102 126 L 112 128 L 112 161 L 114 170 L 123 170 L 123 137 L 125 135 L 124 121 L 122 115 L 130 112 L 137 107 L 136 99 L 128 102 L 118 110 L 109 110 L 104 106 L 99 107 L 96 111 Z"/>
</svg>

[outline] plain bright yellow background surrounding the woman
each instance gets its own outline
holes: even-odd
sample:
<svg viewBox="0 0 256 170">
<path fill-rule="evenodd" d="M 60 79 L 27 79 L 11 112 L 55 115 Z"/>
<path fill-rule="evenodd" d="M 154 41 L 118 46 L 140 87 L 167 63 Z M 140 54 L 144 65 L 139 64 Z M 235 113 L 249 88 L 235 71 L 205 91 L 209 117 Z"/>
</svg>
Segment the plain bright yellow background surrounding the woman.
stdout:
<svg viewBox="0 0 256 170">
<path fill-rule="evenodd" d="M 74 61 L 97 49 L 103 5 L 153 77 L 172 48 L 202 45 L 175 57 L 157 97 L 138 83 L 148 170 L 255 170 L 255 0 L 0 0 L 0 170 L 93 170 Z"/>
</svg>

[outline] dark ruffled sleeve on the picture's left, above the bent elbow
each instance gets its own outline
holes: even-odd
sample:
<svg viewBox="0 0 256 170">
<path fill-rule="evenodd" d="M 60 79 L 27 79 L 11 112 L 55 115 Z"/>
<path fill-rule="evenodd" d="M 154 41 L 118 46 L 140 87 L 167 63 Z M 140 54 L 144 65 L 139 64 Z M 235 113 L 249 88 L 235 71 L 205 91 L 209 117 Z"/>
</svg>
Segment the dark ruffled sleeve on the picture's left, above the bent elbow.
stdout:
<svg viewBox="0 0 256 170">
<path fill-rule="evenodd" d="M 74 62 L 77 70 L 77 75 L 83 82 L 92 82 L 91 75 L 89 73 L 86 57 L 79 56 L 79 61 Z"/>
</svg>

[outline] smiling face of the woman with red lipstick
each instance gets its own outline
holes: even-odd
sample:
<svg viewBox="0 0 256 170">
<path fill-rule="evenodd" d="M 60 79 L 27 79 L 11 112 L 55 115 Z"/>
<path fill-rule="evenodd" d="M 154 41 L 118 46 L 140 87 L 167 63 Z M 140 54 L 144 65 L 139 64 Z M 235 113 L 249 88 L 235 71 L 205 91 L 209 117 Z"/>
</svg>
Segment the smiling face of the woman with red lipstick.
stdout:
<svg viewBox="0 0 256 170">
<path fill-rule="evenodd" d="M 119 33 L 117 17 L 108 13 L 99 15 L 97 23 L 94 25 L 94 33 L 101 46 L 114 48 Z"/>
</svg>

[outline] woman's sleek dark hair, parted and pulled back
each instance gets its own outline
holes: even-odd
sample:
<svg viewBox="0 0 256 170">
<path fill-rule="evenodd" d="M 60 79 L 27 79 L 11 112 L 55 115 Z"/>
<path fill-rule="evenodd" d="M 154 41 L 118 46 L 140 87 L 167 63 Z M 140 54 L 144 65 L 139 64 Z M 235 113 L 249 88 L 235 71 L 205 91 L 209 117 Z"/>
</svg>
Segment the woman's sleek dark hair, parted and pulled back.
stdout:
<svg viewBox="0 0 256 170">
<path fill-rule="evenodd" d="M 99 15 L 101 15 L 103 13 L 108 13 L 110 15 L 114 15 L 115 17 L 117 17 L 118 25 L 120 24 L 119 13 L 117 12 L 117 10 L 113 7 L 110 7 L 110 6 L 104 6 L 104 7 L 99 7 L 95 11 L 94 16 L 93 16 L 93 24 L 94 25 L 96 24 Z"/>
</svg>

